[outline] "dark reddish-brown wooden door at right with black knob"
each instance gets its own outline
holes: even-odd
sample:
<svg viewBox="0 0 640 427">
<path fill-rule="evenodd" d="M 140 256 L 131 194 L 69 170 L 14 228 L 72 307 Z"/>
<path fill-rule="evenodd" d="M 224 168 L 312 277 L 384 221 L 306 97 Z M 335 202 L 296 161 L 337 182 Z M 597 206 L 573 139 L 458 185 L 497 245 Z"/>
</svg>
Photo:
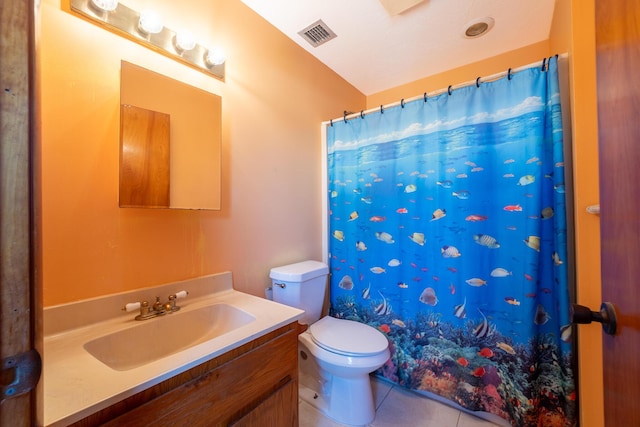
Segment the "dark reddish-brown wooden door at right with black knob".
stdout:
<svg viewBox="0 0 640 427">
<path fill-rule="evenodd" d="M 596 1 L 602 299 L 619 329 L 603 337 L 610 427 L 640 426 L 639 19 L 640 0 Z"/>
</svg>

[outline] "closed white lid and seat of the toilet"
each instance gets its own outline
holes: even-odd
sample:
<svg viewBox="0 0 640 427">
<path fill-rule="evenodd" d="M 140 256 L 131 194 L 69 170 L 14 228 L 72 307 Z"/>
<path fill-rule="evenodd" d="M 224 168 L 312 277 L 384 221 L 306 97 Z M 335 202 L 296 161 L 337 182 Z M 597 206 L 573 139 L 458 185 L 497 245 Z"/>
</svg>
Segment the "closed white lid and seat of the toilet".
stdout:
<svg viewBox="0 0 640 427">
<path fill-rule="evenodd" d="M 330 316 L 309 326 L 309 334 L 319 347 L 345 356 L 373 356 L 389 346 L 387 338 L 371 326 Z"/>
</svg>

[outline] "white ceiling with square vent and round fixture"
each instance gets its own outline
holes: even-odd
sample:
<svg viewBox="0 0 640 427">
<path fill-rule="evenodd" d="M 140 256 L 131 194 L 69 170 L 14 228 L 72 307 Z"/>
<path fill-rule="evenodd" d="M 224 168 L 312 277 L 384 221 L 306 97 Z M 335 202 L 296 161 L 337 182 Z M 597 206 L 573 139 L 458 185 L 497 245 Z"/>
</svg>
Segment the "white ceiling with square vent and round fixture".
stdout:
<svg viewBox="0 0 640 427">
<path fill-rule="evenodd" d="M 424 0 L 393 16 L 381 1 L 417 0 L 242 0 L 365 95 L 547 40 L 556 0 Z M 464 37 L 487 16 L 491 31 Z M 337 37 L 314 48 L 298 32 L 318 19 Z"/>
</svg>

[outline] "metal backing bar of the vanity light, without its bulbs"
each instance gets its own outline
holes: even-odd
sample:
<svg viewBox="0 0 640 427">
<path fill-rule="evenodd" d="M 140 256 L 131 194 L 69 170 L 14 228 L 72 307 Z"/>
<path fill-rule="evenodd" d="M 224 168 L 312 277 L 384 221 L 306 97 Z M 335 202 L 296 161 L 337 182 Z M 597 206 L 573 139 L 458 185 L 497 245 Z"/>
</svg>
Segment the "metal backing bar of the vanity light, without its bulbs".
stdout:
<svg viewBox="0 0 640 427">
<path fill-rule="evenodd" d="M 177 48 L 175 31 L 163 27 L 158 33 L 145 33 L 139 29 L 140 13 L 135 10 L 121 3 L 113 11 L 99 10 L 92 7 L 91 2 L 92 0 L 71 0 L 71 10 L 142 46 L 224 80 L 225 63 L 216 61 L 214 64 L 207 61 L 208 48 L 197 43 L 192 49 Z"/>
</svg>

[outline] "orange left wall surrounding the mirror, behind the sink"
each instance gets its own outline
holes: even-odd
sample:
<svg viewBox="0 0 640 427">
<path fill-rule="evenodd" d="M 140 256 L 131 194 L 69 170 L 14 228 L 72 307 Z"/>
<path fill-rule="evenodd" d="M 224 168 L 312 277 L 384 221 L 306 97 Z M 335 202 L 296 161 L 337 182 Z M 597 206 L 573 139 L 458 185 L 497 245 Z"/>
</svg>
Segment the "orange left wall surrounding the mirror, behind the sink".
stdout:
<svg viewBox="0 0 640 427">
<path fill-rule="evenodd" d="M 364 108 L 364 95 L 237 0 L 195 0 L 190 13 L 156 3 L 170 28 L 223 46 L 224 82 L 59 1 L 40 5 L 45 306 L 226 270 L 236 288 L 264 295 L 271 267 L 322 257 L 320 123 Z M 121 60 L 222 97 L 220 211 L 118 208 Z"/>
</svg>

